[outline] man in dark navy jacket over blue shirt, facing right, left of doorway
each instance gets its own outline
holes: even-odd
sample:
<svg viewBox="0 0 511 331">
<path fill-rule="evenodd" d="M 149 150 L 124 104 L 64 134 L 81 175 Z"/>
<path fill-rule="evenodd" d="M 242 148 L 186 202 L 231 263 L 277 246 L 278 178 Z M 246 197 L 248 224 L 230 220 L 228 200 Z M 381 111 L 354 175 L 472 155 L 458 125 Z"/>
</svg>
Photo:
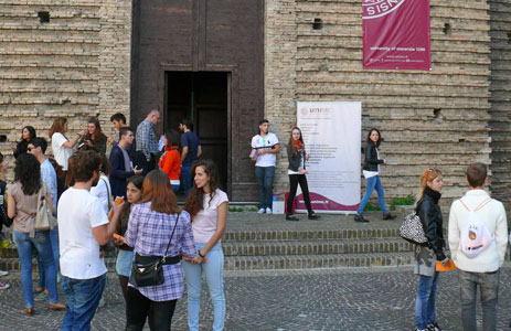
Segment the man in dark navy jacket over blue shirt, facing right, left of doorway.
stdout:
<svg viewBox="0 0 511 331">
<path fill-rule="evenodd" d="M 119 143 L 110 152 L 110 186 L 111 195 L 126 196 L 126 180 L 134 174 L 142 173 L 142 169 L 132 168 L 132 161 L 126 151 L 134 143 L 134 130 L 124 127 L 119 130 Z"/>
</svg>

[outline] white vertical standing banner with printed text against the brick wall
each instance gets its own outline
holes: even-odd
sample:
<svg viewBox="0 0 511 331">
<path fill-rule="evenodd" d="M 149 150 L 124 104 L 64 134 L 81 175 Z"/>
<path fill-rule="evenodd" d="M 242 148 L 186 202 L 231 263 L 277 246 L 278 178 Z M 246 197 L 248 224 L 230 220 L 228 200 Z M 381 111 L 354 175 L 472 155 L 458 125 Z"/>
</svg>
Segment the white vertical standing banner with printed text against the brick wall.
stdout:
<svg viewBox="0 0 511 331">
<path fill-rule="evenodd" d="M 312 209 L 354 212 L 360 204 L 362 103 L 297 103 L 297 124 L 306 151 Z M 297 210 L 306 210 L 301 191 Z"/>
</svg>

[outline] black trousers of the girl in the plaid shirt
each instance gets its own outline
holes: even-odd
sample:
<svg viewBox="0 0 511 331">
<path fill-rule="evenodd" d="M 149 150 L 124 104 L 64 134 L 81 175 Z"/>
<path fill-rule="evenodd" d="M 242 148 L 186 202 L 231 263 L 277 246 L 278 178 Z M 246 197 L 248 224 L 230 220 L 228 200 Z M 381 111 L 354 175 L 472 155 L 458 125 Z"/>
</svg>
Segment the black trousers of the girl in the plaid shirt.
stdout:
<svg viewBox="0 0 511 331">
<path fill-rule="evenodd" d="M 170 331 L 177 302 L 178 300 L 152 301 L 137 289 L 128 287 L 126 331 L 141 331 L 146 324 L 146 318 L 149 319 L 151 331 Z"/>
</svg>

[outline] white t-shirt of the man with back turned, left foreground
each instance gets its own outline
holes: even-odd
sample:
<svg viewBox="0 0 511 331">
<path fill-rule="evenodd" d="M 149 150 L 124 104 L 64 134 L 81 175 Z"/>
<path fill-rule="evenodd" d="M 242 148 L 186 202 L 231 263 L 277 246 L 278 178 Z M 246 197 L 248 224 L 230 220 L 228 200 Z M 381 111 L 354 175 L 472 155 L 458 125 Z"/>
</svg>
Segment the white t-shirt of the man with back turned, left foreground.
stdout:
<svg viewBox="0 0 511 331">
<path fill-rule="evenodd" d="M 58 245 L 63 276 L 92 279 L 107 271 L 93 233 L 93 227 L 107 223 L 99 199 L 87 190 L 70 188 L 62 193 L 58 200 Z"/>
</svg>

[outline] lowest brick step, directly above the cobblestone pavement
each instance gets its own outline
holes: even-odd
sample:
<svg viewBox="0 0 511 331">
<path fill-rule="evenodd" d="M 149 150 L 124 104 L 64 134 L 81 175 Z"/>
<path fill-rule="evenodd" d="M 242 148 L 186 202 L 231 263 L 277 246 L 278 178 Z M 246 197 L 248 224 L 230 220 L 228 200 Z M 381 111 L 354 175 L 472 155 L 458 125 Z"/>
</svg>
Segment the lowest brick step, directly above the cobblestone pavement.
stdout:
<svg viewBox="0 0 511 331">
<path fill-rule="evenodd" d="M 310 269 L 334 267 L 379 267 L 413 265 L 414 254 L 324 254 L 285 256 L 228 256 L 226 270 Z"/>
</svg>

